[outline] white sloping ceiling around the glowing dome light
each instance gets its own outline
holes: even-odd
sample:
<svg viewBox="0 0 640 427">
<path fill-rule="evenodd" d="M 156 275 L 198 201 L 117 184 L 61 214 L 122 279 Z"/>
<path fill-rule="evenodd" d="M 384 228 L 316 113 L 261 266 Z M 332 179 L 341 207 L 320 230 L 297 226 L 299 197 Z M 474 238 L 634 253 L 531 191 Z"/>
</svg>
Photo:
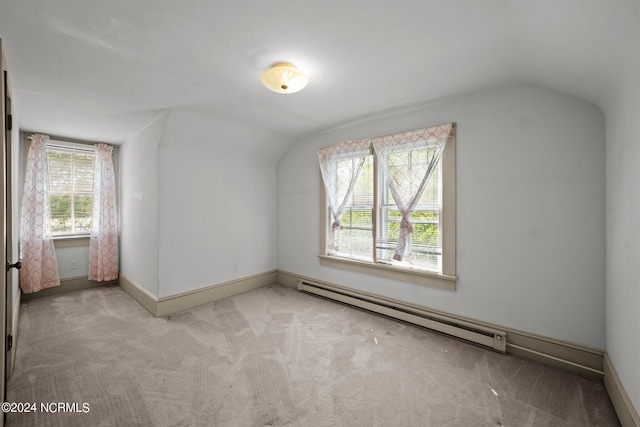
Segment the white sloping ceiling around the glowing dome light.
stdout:
<svg viewBox="0 0 640 427">
<path fill-rule="evenodd" d="M 606 110 L 640 81 L 637 0 L 0 0 L 22 129 L 124 142 L 174 107 L 291 140 L 514 83 Z M 288 61 L 302 92 L 261 72 Z"/>
</svg>

